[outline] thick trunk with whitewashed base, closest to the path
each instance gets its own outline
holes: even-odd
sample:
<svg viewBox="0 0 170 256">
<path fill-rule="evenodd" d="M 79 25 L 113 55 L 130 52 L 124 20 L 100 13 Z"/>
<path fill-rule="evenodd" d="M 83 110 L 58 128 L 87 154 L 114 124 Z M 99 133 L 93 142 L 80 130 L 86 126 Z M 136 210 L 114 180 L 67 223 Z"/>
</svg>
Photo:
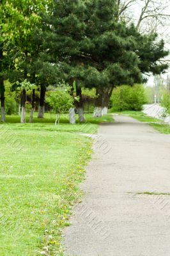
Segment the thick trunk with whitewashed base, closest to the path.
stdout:
<svg viewBox="0 0 170 256">
<path fill-rule="evenodd" d="M 107 115 L 109 99 L 112 95 L 113 87 L 97 88 L 97 99 L 93 117 Z"/>
</svg>

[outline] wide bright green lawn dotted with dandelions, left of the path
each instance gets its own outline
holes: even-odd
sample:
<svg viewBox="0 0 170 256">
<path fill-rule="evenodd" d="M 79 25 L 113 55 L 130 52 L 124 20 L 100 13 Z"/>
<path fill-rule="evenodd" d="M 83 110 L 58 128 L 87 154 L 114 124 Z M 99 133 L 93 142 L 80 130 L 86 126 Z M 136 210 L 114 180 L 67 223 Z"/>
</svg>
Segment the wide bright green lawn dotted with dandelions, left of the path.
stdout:
<svg viewBox="0 0 170 256">
<path fill-rule="evenodd" d="M 91 139 L 75 132 L 97 132 L 100 122 L 54 127 L 54 116 L 18 124 L 7 116 L 0 124 L 0 255 L 62 255 L 61 232 L 70 207 L 79 199 L 79 182 L 91 157 Z M 38 123 L 38 121 L 40 123 Z"/>
</svg>

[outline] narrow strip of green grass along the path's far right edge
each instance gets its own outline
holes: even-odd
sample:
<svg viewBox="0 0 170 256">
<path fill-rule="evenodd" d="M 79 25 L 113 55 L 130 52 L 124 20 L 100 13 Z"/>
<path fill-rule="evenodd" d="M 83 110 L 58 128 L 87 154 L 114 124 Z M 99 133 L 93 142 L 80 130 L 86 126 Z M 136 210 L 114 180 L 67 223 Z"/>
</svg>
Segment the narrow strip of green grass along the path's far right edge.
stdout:
<svg viewBox="0 0 170 256">
<path fill-rule="evenodd" d="M 162 120 L 158 118 L 154 118 L 152 116 L 147 116 L 141 111 L 122 111 L 122 112 L 118 112 L 118 114 L 131 116 L 132 118 L 135 118 L 140 122 L 148 122 L 155 130 L 164 134 L 170 134 L 169 124 L 160 124 Z"/>
</svg>

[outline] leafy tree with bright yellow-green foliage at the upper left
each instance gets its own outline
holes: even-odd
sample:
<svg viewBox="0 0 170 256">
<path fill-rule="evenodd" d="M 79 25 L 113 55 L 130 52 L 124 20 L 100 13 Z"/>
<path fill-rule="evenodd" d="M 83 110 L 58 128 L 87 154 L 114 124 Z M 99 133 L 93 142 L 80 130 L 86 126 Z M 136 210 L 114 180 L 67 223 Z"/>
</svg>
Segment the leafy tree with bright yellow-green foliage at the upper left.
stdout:
<svg viewBox="0 0 170 256">
<path fill-rule="evenodd" d="M 8 0 L 2 2 L 1 15 L 4 19 L 1 26 L 3 36 L 7 42 L 12 42 L 12 61 L 15 65 L 14 72 L 10 74 L 10 81 L 20 81 L 21 83 L 27 79 L 31 83 L 40 83 L 40 68 L 37 68 L 36 65 L 39 54 L 42 52 L 42 19 L 40 15 L 47 11 L 50 1 Z M 45 88 L 45 86 L 46 84 L 40 83 L 41 88 Z M 25 105 L 26 102 L 23 101 L 26 99 L 25 92 L 22 94 L 21 103 Z M 33 92 L 34 94 L 35 92 Z"/>
</svg>

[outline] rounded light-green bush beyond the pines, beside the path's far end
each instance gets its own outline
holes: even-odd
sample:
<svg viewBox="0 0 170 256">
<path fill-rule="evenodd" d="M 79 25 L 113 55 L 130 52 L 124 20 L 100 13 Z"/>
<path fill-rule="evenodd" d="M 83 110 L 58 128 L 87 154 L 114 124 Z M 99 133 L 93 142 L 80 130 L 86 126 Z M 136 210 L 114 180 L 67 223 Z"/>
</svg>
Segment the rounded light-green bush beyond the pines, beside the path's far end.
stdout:
<svg viewBox="0 0 170 256">
<path fill-rule="evenodd" d="M 111 111 L 141 111 L 143 104 L 146 104 L 146 94 L 141 84 L 134 86 L 122 85 L 115 88 L 112 92 Z"/>
</svg>

